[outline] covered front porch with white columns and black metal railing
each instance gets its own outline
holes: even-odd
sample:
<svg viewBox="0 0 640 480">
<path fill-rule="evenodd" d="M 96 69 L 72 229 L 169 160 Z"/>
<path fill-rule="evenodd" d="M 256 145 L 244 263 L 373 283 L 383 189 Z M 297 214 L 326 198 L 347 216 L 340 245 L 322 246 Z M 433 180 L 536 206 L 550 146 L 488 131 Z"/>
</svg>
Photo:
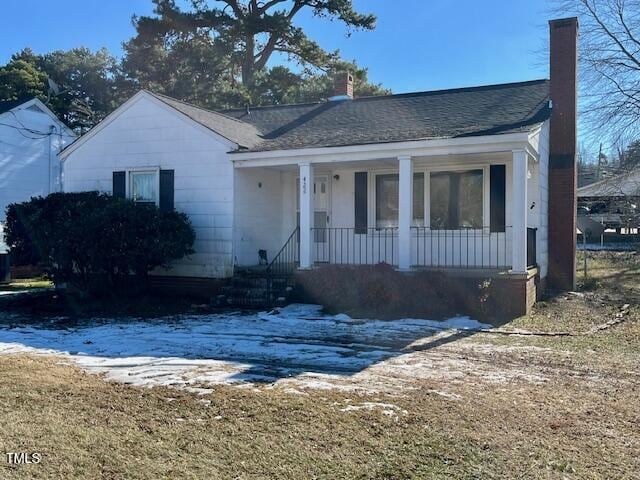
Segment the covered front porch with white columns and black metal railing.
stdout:
<svg viewBox="0 0 640 480">
<path fill-rule="evenodd" d="M 546 218 L 538 153 L 529 142 L 460 150 L 235 162 L 236 264 L 262 250 L 281 273 L 384 263 L 526 274 Z"/>
</svg>

